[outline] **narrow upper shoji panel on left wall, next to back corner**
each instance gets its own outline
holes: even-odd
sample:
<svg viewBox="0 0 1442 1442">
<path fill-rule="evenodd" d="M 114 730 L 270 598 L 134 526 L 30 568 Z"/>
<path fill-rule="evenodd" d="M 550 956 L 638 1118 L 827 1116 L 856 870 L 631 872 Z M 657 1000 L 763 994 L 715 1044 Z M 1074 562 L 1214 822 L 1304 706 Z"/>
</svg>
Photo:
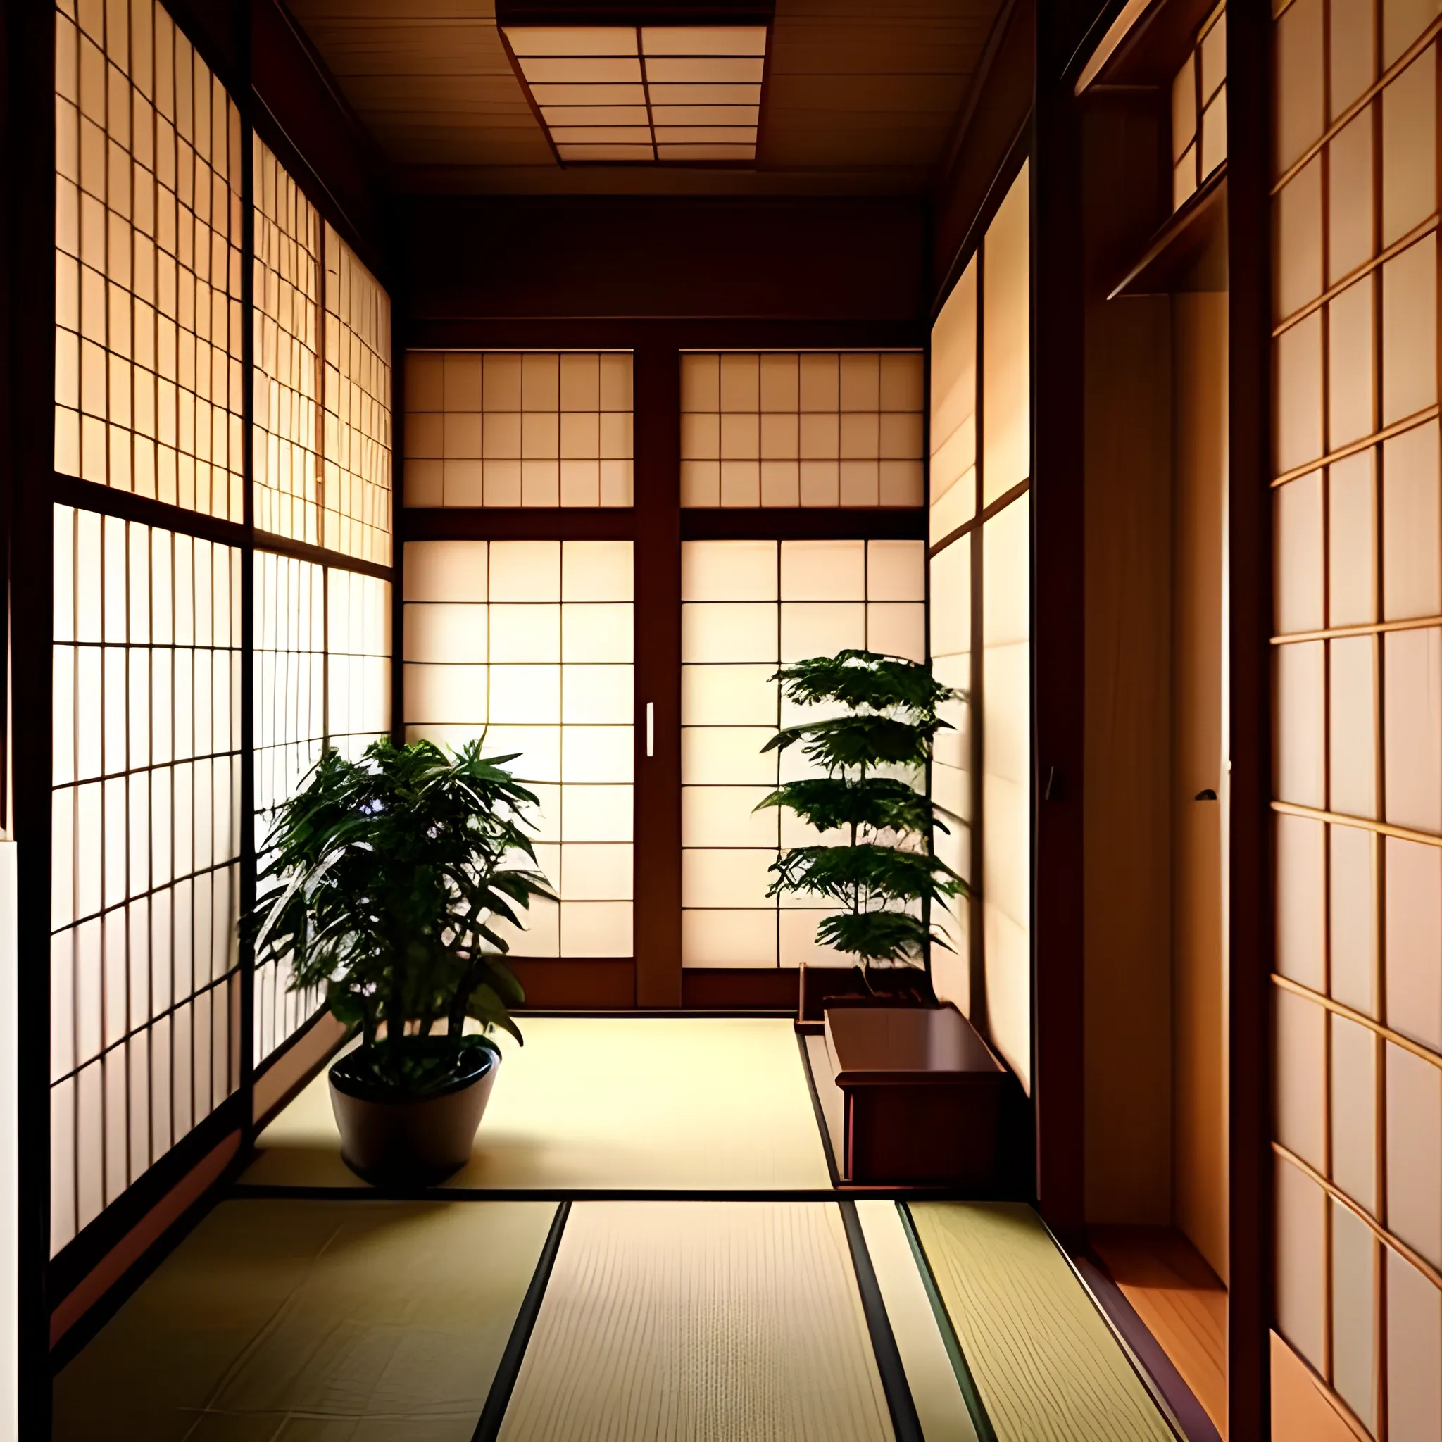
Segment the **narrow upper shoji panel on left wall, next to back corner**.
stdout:
<svg viewBox="0 0 1442 1442">
<path fill-rule="evenodd" d="M 322 545 L 391 564 L 391 297 L 324 229 Z"/>
</svg>

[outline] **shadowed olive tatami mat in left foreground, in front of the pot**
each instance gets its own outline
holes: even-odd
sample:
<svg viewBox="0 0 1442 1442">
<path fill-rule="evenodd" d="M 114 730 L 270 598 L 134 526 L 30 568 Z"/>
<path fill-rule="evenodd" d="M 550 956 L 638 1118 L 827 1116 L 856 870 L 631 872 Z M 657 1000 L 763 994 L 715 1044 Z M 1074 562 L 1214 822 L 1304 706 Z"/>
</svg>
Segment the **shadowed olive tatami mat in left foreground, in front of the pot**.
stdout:
<svg viewBox="0 0 1442 1442">
<path fill-rule="evenodd" d="M 55 1442 L 470 1442 L 551 1203 L 229 1201 L 55 1383 Z"/>
</svg>

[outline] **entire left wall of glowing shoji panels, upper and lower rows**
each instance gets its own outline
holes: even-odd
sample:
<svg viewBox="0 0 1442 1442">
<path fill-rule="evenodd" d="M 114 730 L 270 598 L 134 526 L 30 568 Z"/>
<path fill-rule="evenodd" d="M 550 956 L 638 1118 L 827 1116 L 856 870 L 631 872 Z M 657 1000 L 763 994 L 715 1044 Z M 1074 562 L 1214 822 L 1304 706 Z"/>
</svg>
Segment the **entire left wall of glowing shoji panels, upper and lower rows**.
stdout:
<svg viewBox="0 0 1442 1442">
<path fill-rule="evenodd" d="M 389 728 L 391 523 L 385 293 L 163 6 L 59 0 L 55 124 L 52 1255 L 313 1008 L 244 1034 L 242 806 Z"/>
</svg>

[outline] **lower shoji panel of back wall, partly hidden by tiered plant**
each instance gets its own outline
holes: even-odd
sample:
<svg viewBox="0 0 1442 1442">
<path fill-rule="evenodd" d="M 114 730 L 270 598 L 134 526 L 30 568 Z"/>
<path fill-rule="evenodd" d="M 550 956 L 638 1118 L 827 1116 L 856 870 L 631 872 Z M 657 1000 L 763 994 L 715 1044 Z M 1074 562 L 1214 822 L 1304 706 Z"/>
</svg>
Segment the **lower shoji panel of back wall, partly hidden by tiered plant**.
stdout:
<svg viewBox="0 0 1442 1442">
<path fill-rule="evenodd" d="M 766 895 L 777 849 L 806 838 L 790 813 L 754 806 L 809 774 L 797 751 L 761 756 L 777 725 L 802 718 L 767 678 L 844 646 L 924 660 L 923 567 L 920 541 L 682 542 L 684 966 L 841 965 L 815 945 L 825 908 Z"/>
</svg>

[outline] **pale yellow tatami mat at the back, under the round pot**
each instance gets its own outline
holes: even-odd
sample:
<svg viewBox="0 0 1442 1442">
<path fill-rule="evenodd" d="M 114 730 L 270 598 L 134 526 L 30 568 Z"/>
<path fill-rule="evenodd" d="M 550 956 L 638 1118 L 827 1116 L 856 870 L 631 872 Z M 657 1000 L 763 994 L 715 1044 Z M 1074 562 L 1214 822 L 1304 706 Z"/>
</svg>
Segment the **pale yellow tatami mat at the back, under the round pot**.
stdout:
<svg viewBox="0 0 1442 1442">
<path fill-rule="evenodd" d="M 829 1188 L 784 1018 L 525 1017 L 470 1162 L 448 1187 Z M 261 1133 L 244 1182 L 363 1187 L 317 1076 Z"/>
</svg>

